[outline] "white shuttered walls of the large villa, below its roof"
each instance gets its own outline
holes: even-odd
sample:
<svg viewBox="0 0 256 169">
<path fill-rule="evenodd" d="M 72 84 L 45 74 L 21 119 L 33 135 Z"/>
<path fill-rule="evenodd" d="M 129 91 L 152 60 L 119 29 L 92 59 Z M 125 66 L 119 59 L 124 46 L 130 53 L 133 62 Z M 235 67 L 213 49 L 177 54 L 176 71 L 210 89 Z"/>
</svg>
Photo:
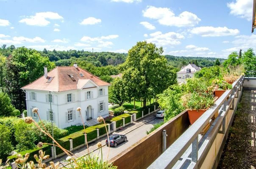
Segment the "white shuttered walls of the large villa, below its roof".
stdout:
<svg viewBox="0 0 256 169">
<path fill-rule="evenodd" d="M 99 87 L 93 82 L 88 82 L 83 89 L 77 90 L 49 92 L 26 89 L 25 92 L 28 116 L 38 121 L 38 117 L 32 113 L 32 109 L 37 107 L 41 119 L 51 121 L 50 110 L 52 109 L 53 121 L 58 128 L 82 124 L 81 116 L 76 110 L 77 107 L 81 107 L 84 122 L 86 119 L 97 119 L 98 116 L 106 117 L 109 115 L 108 85 Z M 50 94 L 52 95 L 52 102 L 50 102 Z"/>
</svg>

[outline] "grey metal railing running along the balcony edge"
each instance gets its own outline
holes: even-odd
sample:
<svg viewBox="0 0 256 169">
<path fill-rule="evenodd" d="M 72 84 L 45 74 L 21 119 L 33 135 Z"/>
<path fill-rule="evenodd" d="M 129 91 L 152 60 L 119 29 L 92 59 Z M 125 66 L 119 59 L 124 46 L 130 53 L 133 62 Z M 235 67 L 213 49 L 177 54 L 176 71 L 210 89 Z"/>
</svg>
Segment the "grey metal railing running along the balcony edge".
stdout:
<svg viewBox="0 0 256 169">
<path fill-rule="evenodd" d="M 241 76 L 193 125 L 191 125 L 167 150 L 156 159 L 148 169 L 170 168 L 200 168 L 208 154 L 217 134 L 227 135 L 227 129 L 231 124 L 226 124 L 226 116 L 229 110 L 236 110 L 237 102 L 241 96 L 244 76 Z M 237 98 L 235 103 L 234 99 Z M 211 117 L 216 112 L 219 115 L 215 120 Z M 234 113 L 231 120 L 234 117 Z M 200 131 L 210 122 L 211 127 L 205 135 Z"/>
</svg>

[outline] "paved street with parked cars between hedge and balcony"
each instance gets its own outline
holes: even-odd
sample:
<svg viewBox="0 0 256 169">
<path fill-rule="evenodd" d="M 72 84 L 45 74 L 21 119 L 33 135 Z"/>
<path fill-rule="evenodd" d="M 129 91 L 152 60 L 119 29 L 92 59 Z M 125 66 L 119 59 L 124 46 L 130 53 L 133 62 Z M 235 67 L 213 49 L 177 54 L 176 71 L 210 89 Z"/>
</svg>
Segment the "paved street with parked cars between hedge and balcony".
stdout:
<svg viewBox="0 0 256 169">
<path fill-rule="evenodd" d="M 153 126 L 153 124 L 159 123 L 163 121 L 163 119 L 155 118 L 155 114 L 150 114 L 149 116 L 138 120 L 130 125 L 125 126 L 122 130 L 118 130 L 114 132 L 113 134 L 125 134 L 128 138 L 127 142 L 124 142 L 122 144 L 119 144 L 117 147 L 110 147 L 110 153 L 109 153 L 109 159 L 113 158 L 114 156 L 118 155 L 128 147 L 130 147 L 132 144 L 138 142 L 140 139 L 145 137 L 146 131 L 149 131 L 150 128 Z M 106 138 L 102 137 L 99 140 L 96 140 L 95 142 L 92 142 L 89 144 L 89 151 L 95 155 L 98 155 L 99 149 L 97 149 L 97 142 L 101 142 L 102 145 L 106 144 Z M 109 147 L 106 145 L 102 147 L 103 150 L 103 159 L 106 160 L 107 153 L 109 151 Z M 83 155 L 86 155 L 88 152 L 86 146 L 81 147 L 78 150 L 73 151 L 72 153 L 75 154 L 75 156 L 80 157 Z M 74 156 L 74 158 L 75 158 Z M 60 158 L 54 159 L 53 161 L 56 163 L 57 161 L 60 161 L 61 163 L 65 163 L 63 159 L 65 160 L 67 158 L 67 155 L 64 155 Z"/>
</svg>

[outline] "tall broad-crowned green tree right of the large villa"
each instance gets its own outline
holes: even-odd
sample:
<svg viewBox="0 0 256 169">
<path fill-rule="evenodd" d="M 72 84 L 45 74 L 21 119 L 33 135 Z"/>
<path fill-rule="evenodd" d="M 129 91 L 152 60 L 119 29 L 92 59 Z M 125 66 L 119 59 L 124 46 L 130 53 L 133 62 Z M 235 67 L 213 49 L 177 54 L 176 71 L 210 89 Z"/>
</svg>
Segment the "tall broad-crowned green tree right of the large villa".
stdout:
<svg viewBox="0 0 256 169">
<path fill-rule="evenodd" d="M 121 68 L 130 101 L 142 99 L 143 106 L 146 106 L 147 99 L 156 97 L 177 82 L 176 72 L 167 66 L 162 53 L 162 47 L 157 48 L 155 44 L 146 41 L 137 42 L 128 51 L 128 57 Z"/>
</svg>

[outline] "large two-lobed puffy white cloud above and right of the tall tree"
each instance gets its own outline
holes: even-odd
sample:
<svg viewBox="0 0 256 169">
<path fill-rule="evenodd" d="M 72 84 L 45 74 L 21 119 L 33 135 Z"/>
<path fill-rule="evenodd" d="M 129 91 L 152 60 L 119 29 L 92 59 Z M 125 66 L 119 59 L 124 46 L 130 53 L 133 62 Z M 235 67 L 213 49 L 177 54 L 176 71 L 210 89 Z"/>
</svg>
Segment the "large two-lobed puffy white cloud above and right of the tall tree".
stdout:
<svg viewBox="0 0 256 169">
<path fill-rule="evenodd" d="M 143 16 L 150 19 L 157 19 L 159 24 L 176 27 L 193 27 L 200 22 L 200 18 L 195 14 L 184 11 L 178 16 L 175 16 L 170 8 L 156 8 L 154 6 L 147 6 L 142 10 Z"/>
</svg>

